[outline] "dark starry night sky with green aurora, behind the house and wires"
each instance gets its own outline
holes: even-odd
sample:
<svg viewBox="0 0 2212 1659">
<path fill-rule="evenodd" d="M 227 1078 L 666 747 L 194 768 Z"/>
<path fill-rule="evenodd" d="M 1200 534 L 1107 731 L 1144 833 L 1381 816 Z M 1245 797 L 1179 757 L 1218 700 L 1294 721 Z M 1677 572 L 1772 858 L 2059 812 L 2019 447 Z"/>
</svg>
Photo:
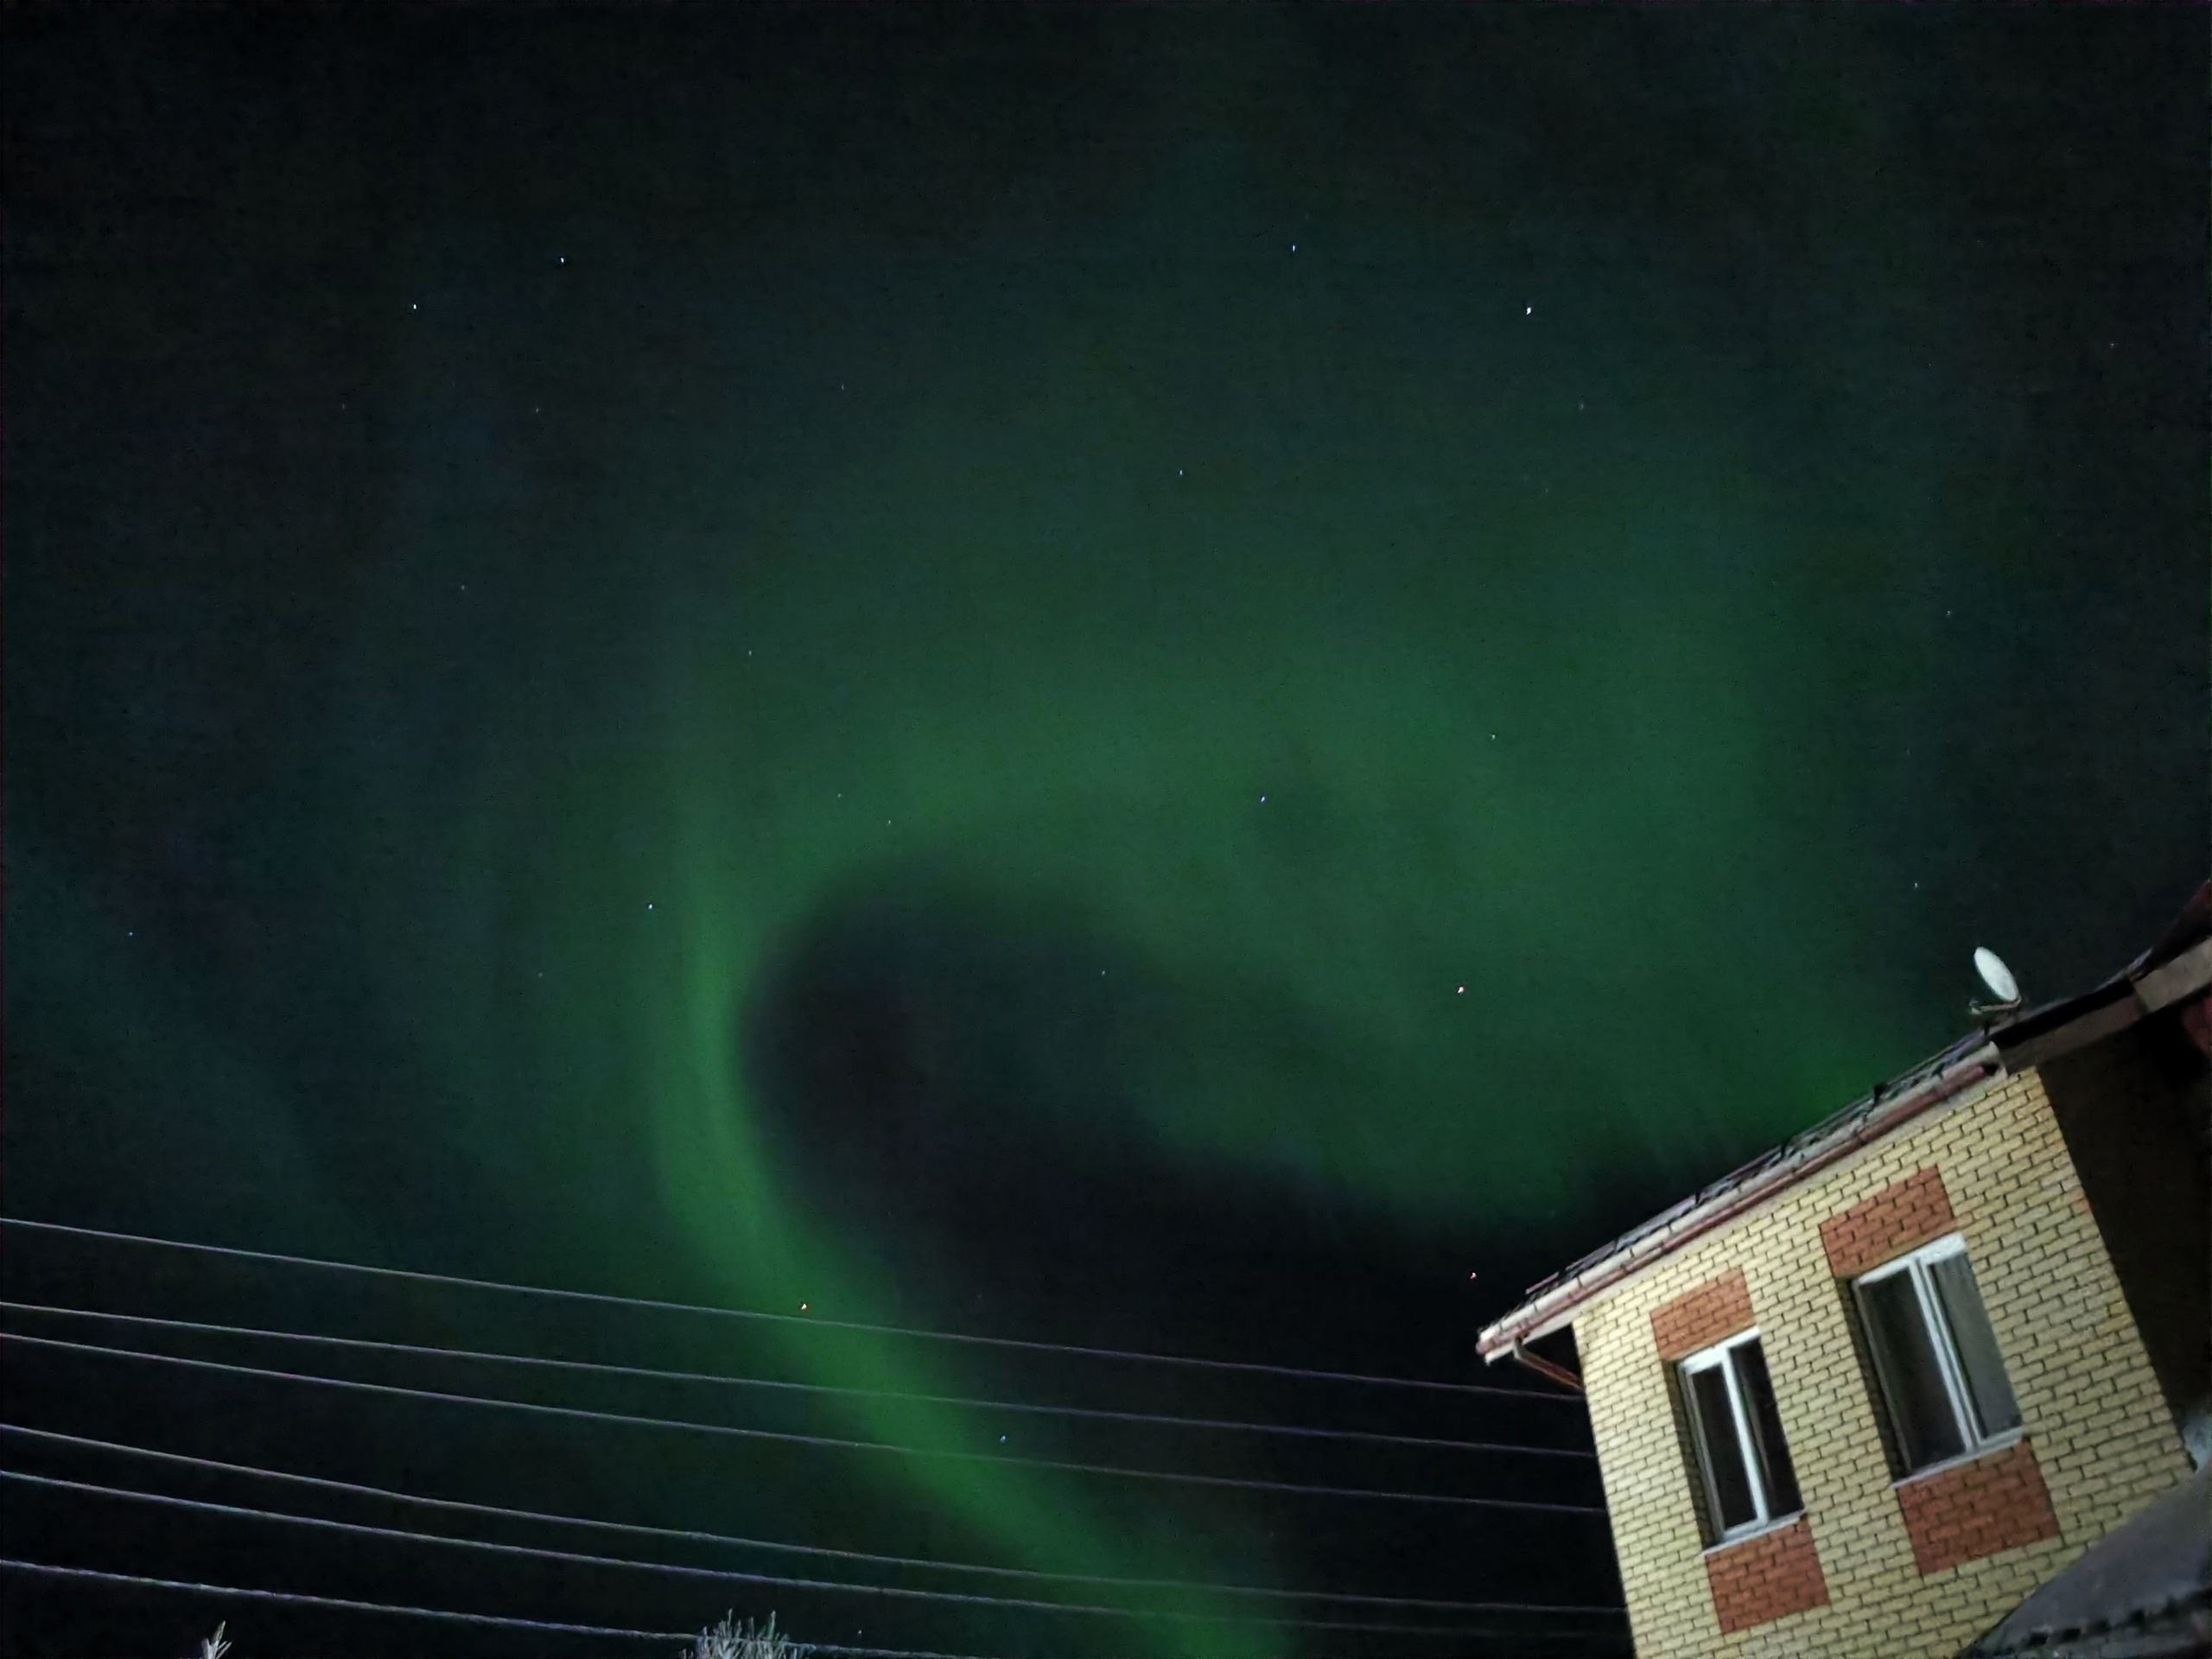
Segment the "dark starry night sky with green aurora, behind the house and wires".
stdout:
<svg viewBox="0 0 2212 1659">
<path fill-rule="evenodd" d="M 2062 995 L 2203 880 L 2205 35 L 2194 9 L 11 7 L 4 1210 L 1524 1383 L 1478 1376 L 1482 1321 L 1960 1035 L 1975 945 Z M 150 1314 L 1586 1444 L 1555 1402 L 20 1230 L 0 1265 L 18 1298 Z M 33 1327 L 1597 1495 L 1557 1458 Z M 453 1498 L 1619 1595 L 1595 1517 L 9 1347 L 9 1420 Z M 22 1442 L 4 1467 L 425 1524 Z M 9 1553 L 84 1566 L 646 1628 L 774 1606 L 1006 1659 L 1621 1652 L 748 1604 L 24 1489 L 4 1515 Z M 637 1650 L 0 1590 L 24 1652 L 181 1652 L 217 1617 L 239 1659 Z"/>
</svg>

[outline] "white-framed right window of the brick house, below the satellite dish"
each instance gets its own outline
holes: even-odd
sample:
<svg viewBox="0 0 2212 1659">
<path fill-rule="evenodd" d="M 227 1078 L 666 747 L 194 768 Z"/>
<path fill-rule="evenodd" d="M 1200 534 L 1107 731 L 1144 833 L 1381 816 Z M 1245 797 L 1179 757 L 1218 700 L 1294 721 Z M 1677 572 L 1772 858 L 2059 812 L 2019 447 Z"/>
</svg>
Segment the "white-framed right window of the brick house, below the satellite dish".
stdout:
<svg viewBox="0 0 2212 1659">
<path fill-rule="evenodd" d="M 1905 1473 L 1980 1451 L 2020 1427 L 1964 1239 L 1938 1239 L 1867 1274 L 1854 1292 Z"/>
</svg>

